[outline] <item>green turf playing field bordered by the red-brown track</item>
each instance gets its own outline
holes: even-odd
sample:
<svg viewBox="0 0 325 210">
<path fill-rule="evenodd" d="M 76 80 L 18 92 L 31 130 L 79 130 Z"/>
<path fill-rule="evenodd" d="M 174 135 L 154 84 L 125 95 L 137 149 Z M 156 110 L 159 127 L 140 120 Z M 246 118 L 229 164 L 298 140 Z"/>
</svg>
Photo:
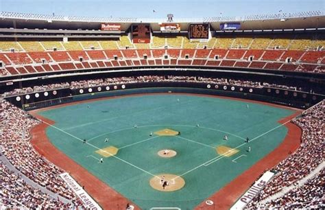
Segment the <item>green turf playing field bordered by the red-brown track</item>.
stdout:
<svg viewBox="0 0 325 210">
<path fill-rule="evenodd" d="M 55 121 L 47 137 L 56 148 L 139 207 L 193 209 L 272 152 L 287 135 L 278 121 L 293 113 L 252 102 L 167 94 L 113 97 L 38 114 Z M 181 135 L 149 136 L 166 128 Z M 112 150 L 102 152 L 109 147 L 118 149 L 115 156 L 106 157 Z M 232 155 L 220 154 L 220 148 L 230 148 Z M 176 156 L 158 156 L 165 149 Z M 158 174 L 175 174 L 185 185 L 178 191 L 153 189 L 149 180 Z"/>
</svg>

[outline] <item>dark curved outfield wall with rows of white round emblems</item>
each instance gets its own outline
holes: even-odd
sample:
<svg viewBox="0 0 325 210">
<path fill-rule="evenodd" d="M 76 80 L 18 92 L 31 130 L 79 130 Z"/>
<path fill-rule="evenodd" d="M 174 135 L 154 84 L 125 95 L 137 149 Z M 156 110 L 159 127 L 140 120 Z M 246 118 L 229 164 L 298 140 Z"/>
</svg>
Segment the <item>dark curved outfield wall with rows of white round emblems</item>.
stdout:
<svg viewBox="0 0 325 210">
<path fill-rule="evenodd" d="M 237 97 L 282 104 L 296 108 L 308 108 L 324 95 L 274 88 L 250 88 L 246 86 L 208 84 L 197 82 L 144 82 L 112 84 L 108 86 L 86 87 L 82 89 L 56 89 L 39 93 L 15 95 L 6 99 L 25 110 L 33 110 L 68 102 L 90 100 L 100 97 L 145 93 L 196 93 Z"/>
</svg>

